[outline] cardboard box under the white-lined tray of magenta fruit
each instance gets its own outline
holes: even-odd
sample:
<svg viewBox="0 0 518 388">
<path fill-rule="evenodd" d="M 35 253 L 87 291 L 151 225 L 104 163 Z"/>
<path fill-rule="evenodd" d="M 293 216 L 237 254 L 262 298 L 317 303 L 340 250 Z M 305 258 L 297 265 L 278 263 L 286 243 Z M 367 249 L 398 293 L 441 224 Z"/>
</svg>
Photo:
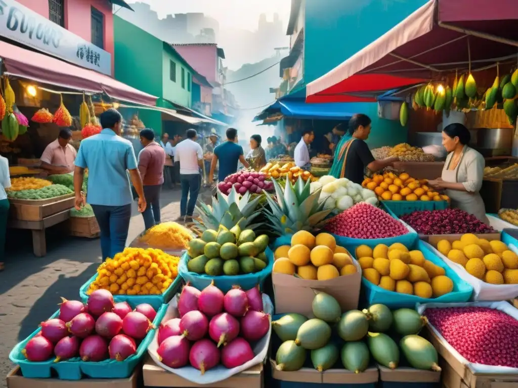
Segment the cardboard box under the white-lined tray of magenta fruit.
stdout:
<svg viewBox="0 0 518 388">
<path fill-rule="evenodd" d="M 263 364 L 258 364 L 218 383 L 200 385 L 185 380 L 156 365 L 151 357 L 147 355 L 142 367 L 142 376 L 144 378 L 144 386 L 153 387 L 263 388 L 264 367 Z"/>
</svg>

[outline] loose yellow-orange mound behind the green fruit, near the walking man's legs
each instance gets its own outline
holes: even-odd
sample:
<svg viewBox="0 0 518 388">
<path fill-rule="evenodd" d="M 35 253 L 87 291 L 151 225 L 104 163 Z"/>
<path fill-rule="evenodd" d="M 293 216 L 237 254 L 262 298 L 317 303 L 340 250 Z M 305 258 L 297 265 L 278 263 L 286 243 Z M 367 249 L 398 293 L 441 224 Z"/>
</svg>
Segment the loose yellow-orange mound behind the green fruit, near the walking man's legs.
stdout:
<svg viewBox="0 0 518 388">
<path fill-rule="evenodd" d="M 189 229 L 176 222 L 162 222 L 149 228 L 140 241 L 153 248 L 186 249 L 193 236 Z"/>
</svg>

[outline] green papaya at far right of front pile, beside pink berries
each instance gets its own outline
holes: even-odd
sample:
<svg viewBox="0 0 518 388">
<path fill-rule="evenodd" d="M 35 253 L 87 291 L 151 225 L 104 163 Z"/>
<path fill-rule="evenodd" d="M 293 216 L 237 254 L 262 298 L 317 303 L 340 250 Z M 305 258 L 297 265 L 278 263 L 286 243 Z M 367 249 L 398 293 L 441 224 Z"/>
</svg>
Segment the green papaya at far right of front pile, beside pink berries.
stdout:
<svg viewBox="0 0 518 388">
<path fill-rule="evenodd" d="M 407 335 L 399 341 L 399 347 L 415 369 L 440 371 L 439 356 L 429 341 L 418 335 Z"/>
</svg>

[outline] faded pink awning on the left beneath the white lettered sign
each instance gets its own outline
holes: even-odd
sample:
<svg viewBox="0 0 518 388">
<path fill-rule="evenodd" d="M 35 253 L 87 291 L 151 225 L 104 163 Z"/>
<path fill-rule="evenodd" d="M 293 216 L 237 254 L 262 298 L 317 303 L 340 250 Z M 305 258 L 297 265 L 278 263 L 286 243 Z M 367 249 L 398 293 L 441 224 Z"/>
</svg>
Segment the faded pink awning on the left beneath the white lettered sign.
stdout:
<svg viewBox="0 0 518 388">
<path fill-rule="evenodd" d="M 71 65 L 51 56 L 0 41 L 0 57 L 7 74 L 37 82 L 94 93 L 142 105 L 155 105 L 157 97 L 93 70 Z"/>
</svg>

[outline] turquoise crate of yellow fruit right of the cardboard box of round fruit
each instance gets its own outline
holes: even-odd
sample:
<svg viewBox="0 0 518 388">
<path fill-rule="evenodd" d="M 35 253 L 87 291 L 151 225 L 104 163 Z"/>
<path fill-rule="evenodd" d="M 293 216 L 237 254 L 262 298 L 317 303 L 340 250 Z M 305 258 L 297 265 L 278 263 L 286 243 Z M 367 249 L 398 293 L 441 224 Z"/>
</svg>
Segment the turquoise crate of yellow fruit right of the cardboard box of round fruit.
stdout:
<svg viewBox="0 0 518 388">
<path fill-rule="evenodd" d="M 381 303 L 390 308 L 408 307 L 414 308 L 416 303 L 463 303 L 469 301 L 473 287 L 462 280 L 446 263 L 435 255 L 421 240 L 408 246 L 409 250 L 418 249 L 423 252 L 426 260 L 444 268 L 446 276 L 453 281 L 453 291 L 439 296 L 438 298 L 425 299 L 416 295 L 401 294 L 395 291 L 387 291 L 379 286 L 373 285 L 366 278 L 362 277 L 362 288 L 369 305 Z M 349 250 L 354 256 L 355 249 Z"/>
</svg>

